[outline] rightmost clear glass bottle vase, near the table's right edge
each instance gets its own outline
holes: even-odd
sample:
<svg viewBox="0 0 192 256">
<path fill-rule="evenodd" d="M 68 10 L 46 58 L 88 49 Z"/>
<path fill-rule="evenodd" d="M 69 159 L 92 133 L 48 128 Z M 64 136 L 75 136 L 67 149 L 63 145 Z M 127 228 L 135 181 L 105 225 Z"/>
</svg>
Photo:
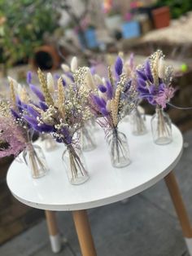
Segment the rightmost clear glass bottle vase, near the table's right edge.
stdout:
<svg viewBox="0 0 192 256">
<path fill-rule="evenodd" d="M 172 121 L 163 108 L 157 107 L 151 118 L 151 130 L 154 142 L 164 145 L 172 142 Z"/>
</svg>

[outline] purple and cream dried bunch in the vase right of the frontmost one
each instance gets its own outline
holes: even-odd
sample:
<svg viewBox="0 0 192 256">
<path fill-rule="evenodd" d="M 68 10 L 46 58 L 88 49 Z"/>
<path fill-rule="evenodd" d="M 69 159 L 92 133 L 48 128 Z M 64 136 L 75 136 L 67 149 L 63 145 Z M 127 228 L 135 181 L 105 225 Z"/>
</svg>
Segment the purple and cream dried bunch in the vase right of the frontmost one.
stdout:
<svg viewBox="0 0 192 256">
<path fill-rule="evenodd" d="M 109 78 L 89 94 L 89 108 L 96 117 L 103 117 L 106 126 L 116 127 L 125 113 L 130 112 L 136 103 L 137 94 L 131 86 L 131 79 L 123 73 L 123 61 L 117 57 L 115 77 L 109 70 Z M 125 108 L 127 108 L 125 112 Z"/>
</svg>

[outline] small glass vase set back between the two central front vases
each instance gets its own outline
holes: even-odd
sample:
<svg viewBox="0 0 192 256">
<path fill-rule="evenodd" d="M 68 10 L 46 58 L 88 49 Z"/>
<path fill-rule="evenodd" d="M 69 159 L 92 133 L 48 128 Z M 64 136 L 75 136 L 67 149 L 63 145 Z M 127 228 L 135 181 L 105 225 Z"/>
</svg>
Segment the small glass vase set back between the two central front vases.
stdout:
<svg viewBox="0 0 192 256">
<path fill-rule="evenodd" d="M 81 128 L 81 148 L 82 151 L 88 152 L 96 148 L 96 142 L 94 138 L 94 130 L 89 122 Z"/>
</svg>

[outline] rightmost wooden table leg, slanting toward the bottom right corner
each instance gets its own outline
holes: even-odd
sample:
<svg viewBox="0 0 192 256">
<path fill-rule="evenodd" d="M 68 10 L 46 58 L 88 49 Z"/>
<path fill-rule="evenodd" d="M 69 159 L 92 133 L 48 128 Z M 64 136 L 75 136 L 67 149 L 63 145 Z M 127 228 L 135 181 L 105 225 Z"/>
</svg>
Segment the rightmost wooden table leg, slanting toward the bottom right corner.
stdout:
<svg viewBox="0 0 192 256">
<path fill-rule="evenodd" d="M 192 227 L 190 225 L 190 218 L 185 209 L 184 202 L 181 197 L 181 192 L 179 190 L 177 180 L 173 172 L 169 173 L 165 178 L 165 183 L 167 184 L 168 191 L 172 197 L 173 205 L 175 206 L 177 216 L 181 223 L 181 228 L 185 236 L 185 242 L 189 249 L 190 256 L 192 256 Z"/>
</svg>

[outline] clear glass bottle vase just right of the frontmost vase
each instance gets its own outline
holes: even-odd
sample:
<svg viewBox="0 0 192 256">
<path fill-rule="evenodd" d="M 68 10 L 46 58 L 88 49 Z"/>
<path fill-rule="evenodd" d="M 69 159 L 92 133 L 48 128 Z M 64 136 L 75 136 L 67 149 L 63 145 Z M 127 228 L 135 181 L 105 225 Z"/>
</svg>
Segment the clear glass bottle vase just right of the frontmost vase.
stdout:
<svg viewBox="0 0 192 256">
<path fill-rule="evenodd" d="M 117 128 L 112 129 L 107 135 L 107 144 L 111 156 L 111 164 L 116 168 L 130 164 L 129 145 L 127 137 Z"/>
</svg>

